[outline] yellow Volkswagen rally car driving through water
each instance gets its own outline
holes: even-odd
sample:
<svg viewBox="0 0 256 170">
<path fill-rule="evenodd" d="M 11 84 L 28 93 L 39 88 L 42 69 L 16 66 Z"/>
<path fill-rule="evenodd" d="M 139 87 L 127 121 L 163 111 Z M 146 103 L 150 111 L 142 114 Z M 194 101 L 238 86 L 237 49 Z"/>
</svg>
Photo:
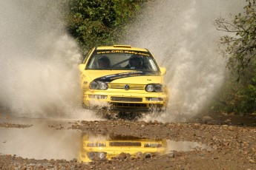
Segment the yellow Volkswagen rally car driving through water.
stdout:
<svg viewBox="0 0 256 170">
<path fill-rule="evenodd" d="M 168 94 L 151 52 L 127 45 L 94 47 L 79 64 L 86 108 L 125 112 L 163 110 Z"/>
</svg>

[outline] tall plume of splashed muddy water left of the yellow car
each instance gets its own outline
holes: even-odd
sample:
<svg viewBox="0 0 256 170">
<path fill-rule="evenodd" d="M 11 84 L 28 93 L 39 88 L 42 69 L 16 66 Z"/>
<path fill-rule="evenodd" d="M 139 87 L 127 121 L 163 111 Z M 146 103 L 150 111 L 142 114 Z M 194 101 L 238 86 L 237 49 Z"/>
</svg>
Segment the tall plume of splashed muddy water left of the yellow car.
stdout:
<svg viewBox="0 0 256 170">
<path fill-rule="evenodd" d="M 81 58 L 54 1 L 3 0 L 0 104 L 16 115 L 86 115 L 80 108 Z"/>
</svg>

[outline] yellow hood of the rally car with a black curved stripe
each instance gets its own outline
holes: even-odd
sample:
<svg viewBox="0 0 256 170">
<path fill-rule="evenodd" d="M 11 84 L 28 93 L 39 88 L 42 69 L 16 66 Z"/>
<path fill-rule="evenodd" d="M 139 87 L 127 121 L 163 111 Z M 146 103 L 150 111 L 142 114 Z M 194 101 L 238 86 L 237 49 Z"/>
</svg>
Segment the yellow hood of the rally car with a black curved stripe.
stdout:
<svg viewBox="0 0 256 170">
<path fill-rule="evenodd" d="M 161 75 L 152 75 L 148 72 L 129 72 L 127 70 L 86 70 L 91 81 L 105 81 L 117 84 L 160 84 Z"/>
</svg>

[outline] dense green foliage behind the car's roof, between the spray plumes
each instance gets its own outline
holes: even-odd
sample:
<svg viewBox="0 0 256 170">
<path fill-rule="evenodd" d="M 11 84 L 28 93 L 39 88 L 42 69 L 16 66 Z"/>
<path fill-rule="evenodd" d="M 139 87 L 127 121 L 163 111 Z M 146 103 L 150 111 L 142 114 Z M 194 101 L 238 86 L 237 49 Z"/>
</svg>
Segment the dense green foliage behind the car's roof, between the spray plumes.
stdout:
<svg viewBox="0 0 256 170">
<path fill-rule="evenodd" d="M 125 23 L 137 16 L 142 0 L 65 0 L 67 29 L 83 53 L 99 45 L 113 45 Z"/>
</svg>

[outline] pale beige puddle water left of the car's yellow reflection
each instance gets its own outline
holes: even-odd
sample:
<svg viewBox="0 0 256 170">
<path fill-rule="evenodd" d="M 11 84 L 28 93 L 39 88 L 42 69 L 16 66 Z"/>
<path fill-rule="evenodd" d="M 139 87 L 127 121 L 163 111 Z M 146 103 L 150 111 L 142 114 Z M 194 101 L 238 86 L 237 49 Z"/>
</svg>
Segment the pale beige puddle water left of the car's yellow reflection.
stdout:
<svg viewBox="0 0 256 170">
<path fill-rule="evenodd" d="M 80 132 L 68 129 L 60 120 L 1 118 L 1 123 L 33 125 L 28 128 L 0 128 L 0 153 L 24 158 L 66 159 L 77 157 Z"/>
</svg>

